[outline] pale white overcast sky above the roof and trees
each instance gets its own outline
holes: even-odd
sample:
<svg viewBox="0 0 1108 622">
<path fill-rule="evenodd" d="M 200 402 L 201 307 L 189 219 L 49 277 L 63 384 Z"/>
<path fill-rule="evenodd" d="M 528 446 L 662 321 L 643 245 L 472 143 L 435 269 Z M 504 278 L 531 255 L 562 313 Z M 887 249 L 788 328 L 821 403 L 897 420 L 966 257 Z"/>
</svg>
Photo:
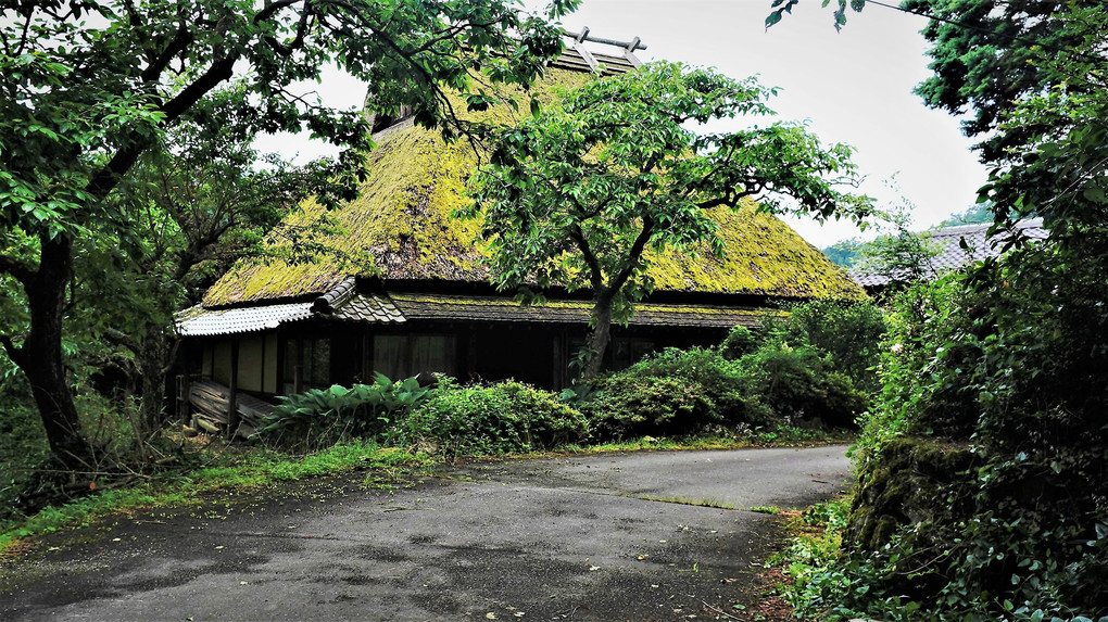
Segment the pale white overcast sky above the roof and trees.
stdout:
<svg viewBox="0 0 1108 622">
<path fill-rule="evenodd" d="M 919 34 L 926 20 L 869 4 L 849 12 L 837 33 L 830 7 L 820 4 L 802 0 L 769 31 L 763 23 L 770 0 L 584 0 L 563 23 L 620 41 L 639 37 L 647 45 L 637 52 L 644 61 L 714 66 L 732 77 L 759 74 L 762 84 L 781 89 L 770 102 L 779 118 L 807 122 L 825 143 L 854 146 L 854 162 L 866 176 L 862 191 L 881 206 L 903 196 L 914 206 L 917 228 L 973 205 L 986 169 L 970 151 L 972 141 L 956 118 L 925 107 L 912 93 L 929 75 L 927 45 Z M 332 75 L 319 92 L 326 103 L 347 107 L 361 104 L 365 89 Z M 299 153 L 301 159 L 329 153 L 318 142 L 288 136 L 258 146 Z M 894 175 L 899 191 L 886 187 Z M 858 235 L 845 221 L 788 221 L 821 248 Z"/>
</svg>

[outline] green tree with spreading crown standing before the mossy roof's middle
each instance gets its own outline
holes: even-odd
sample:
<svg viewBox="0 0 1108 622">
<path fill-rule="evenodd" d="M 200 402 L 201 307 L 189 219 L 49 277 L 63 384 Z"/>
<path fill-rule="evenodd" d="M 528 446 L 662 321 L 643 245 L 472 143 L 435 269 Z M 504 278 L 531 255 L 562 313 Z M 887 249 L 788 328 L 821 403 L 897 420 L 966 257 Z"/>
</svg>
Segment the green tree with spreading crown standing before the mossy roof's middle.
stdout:
<svg viewBox="0 0 1108 622">
<path fill-rule="evenodd" d="M 592 291 L 584 380 L 599 372 L 612 322 L 653 288 L 648 250 L 708 241 L 725 251 L 709 209 L 757 197 L 768 210 L 819 218 L 868 211 L 868 198 L 837 189 L 856 180 L 847 146 L 824 148 L 780 123 L 689 127 L 770 115 L 771 93 L 752 79 L 655 63 L 574 89 L 500 136 L 464 216 L 484 218 L 500 288 Z"/>
</svg>

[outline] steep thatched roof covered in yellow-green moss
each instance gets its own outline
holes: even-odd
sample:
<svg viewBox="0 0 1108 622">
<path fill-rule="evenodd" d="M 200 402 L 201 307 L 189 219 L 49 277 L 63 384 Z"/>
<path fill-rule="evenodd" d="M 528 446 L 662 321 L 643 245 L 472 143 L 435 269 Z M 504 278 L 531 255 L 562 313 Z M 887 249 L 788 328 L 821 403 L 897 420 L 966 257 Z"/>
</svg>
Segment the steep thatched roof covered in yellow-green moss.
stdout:
<svg viewBox="0 0 1108 622">
<path fill-rule="evenodd" d="M 534 92 L 548 101 L 557 86 L 584 80 L 587 74 L 551 70 Z M 523 103 L 521 111 L 527 107 L 525 99 Z M 506 106 L 484 114 L 511 121 Z M 328 215 L 340 232 L 324 236 L 322 246 L 337 252 L 295 265 L 242 261 L 208 290 L 204 307 L 320 294 L 350 274 L 386 281 L 486 282 L 480 225 L 450 216 L 468 200 L 465 184 L 478 162 L 472 146 L 464 141 L 447 144 L 437 132 L 412 125 L 391 128 L 377 139 L 360 198 Z M 823 253 L 756 207 L 715 210 L 718 234 L 727 245 L 722 258 L 707 248 L 698 257 L 673 252 L 653 258 L 657 290 L 801 299 L 865 296 Z M 324 214 L 322 207 L 309 201 L 286 224 L 308 225 Z M 286 242 L 275 238 L 270 243 Z"/>
</svg>

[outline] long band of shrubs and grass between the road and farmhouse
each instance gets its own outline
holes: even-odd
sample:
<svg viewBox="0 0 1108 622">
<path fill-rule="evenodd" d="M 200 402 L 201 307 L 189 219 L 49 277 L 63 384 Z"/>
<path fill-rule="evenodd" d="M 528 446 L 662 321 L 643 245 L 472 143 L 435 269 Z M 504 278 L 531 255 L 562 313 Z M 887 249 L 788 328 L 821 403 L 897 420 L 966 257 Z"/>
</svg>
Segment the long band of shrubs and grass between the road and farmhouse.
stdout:
<svg viewBox="0 0 1108 622">
<path fill-rule="evenodd" d="M 350 468 L 551 449 L 728 448 L 842 440 L 842 433 L 818 423 L 834 411 L 835 400 L 828 398 L 833 392 L 813 387 L 841 375 L 845 380 L 835 382 L 845 383 L 851 396 L 861 395 L 852 376 L 830 370 L 854 370 L 859 385 L 870 382 L 866 375 L 872 372 L 865 361 L 876 349 L 873 344 L 860 348 L 866 339 L 861 335 L 875 341 L 882 326 L 880 312 L 869 304 L 810 303 L 794 308 L 784 319 L 768 317 L 755 331 L 736 329 L 718 346 L 666 350 L 605 376 L 589 391 L 562 396 L 512 381 L 461 385 L 438 377 L 434 384 L 421 386 L 416 377 L 393 382 L 378 375 L 372 385 L 332 386 L 283 398 L 264 419 L 253 447 L 217 443 L 216 450 L 196 450 L 191 440 L 163 436 L 158 443 L 164 453 L 147 458 L 163 462 L 157 471 L 136 471 L 123 486 L 117 479 L 109 481 L 106 490 L 96 474 L 84 474 L 72 479 L 73 486 L 83 489 L 70 495 L 49 477 L 35 475 L 41 466 L 35 460 L 47 459 L 48 447 L 37 427 L 40 419 L 24 407 L 22 416 L 4 419 L 11 434 L 0 444 L 6 467 L 0 495 L 11 508 L 0 517 L 6 521 L 0 523 L 4 533 L 0 547 L 20 537 L 86 523 L 113 508 L 192 502 L 227 487 L 264 486 Z M 780 359 L 783 349 L 790 360 L 796 359 L 788 373 L 781 371 L 783 365 L 767 364 Z M 793 383 L 797 387 L 786 388 Z M 6 396 L 18 397 L 10 390 Z M 102 431 L 105 437 L 117 437 L 121 447 L 127 446 L 129 416 L 137 416 L 137 411 L 106 398 L 85 402 L 79 400 L 85 429 Z M 851 416 L 862 407 L 851 406 Z M 18 410 L 11 413 L 19 414 Z M 41 447 L 38 458 L 23 449 L 35 443 Z M 376 485 L 390 485 L 387 476 L 369 478 Z M 93 496 L 58 502 L 93 490 Z M 39 495 L 35 502 L 29 493 Z M 48 501 L 58 505 L 42 509 Z"/>
</svg>

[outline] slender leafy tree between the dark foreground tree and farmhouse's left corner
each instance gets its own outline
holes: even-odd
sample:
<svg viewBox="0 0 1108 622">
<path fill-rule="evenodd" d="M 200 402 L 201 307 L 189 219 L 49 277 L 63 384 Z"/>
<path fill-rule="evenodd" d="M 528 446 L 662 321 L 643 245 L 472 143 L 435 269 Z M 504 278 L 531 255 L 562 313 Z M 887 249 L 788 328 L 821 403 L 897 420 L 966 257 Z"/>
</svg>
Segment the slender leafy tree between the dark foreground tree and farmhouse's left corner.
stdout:
<svg viewBox="0 0 1108 622">
<path fill-rule="evenodd" d="M 275 229 L 281 219 L 304 199 L 331 191 L 334 163 L 294 167 L 250 146 L 254 132 L 228 114 L 243 96 L 240 87 L 213 93 L 138 159 L 110 197 L 123 204 L 134 232 L 117 251 L 123 260 L 115 278 L 86 281 L 85 270 L 76 271 L 84 286 L 80 303 L 125 301 L 98 332 L 130 353 L 123 360 L 133 364 L 124 371 L 129 388 L 140 387 L 138 421 L 147 433 L 163 423 L 165 375 L 177 343 L 174 312 L 195 303 L 236 259 L 271 253 L 265 236 L 287 237 Z M 285 259 L 317 250 L 310 232 L 296 235 L 296 257 Z"/>
</svg>

